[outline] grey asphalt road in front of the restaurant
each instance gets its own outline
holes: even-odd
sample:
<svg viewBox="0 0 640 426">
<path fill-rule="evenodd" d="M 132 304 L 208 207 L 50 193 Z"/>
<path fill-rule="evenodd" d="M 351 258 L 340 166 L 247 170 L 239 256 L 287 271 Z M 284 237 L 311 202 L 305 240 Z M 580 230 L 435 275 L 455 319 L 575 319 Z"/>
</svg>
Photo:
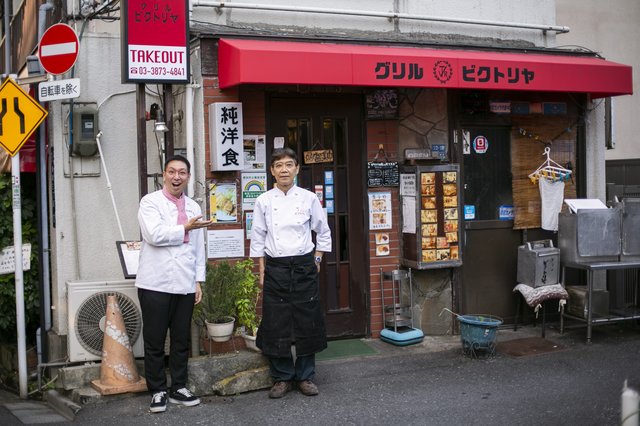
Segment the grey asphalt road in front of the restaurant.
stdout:
<svg viewBox="0 0 640 426">
<path fill-rule="evenodd" d="M 499 339 L 508 339 L 501 330 Z M 91 425 L 615 425 L 625 379 L 640 389 L 640 327 L 547 331 L 566 350 L 472 359 L 460 349 L 402 349 L 319 363 L 320 395 L 266 391 L 206 397 L 198 407 L 150 414 L 147 394 L 85 406 Z M 377 344 L 383 344 L 376 341 Z M 70 424 L 70 423 L 67 423 Z"/>
</svg>

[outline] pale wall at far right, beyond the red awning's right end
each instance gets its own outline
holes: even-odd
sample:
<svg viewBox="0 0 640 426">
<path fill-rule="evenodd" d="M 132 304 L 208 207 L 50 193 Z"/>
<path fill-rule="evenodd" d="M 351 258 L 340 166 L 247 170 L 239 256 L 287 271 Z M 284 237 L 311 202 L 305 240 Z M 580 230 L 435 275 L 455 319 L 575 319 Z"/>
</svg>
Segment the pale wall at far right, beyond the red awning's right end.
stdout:
<svg viewBox="0 0 640 426">
<path fill-rule="evenodd" d="M 637 0 L 557 0 L 557 16 L 571 32 L 557 37 L 558 45 L 577 45 L 596 51 L 606 59 L 633 66 L 633 91 L 640 82 L 640 2 Z M 596 100 L 594 105 L 599 104 Z M 640 158 L 640 96 L 613 98 L 615 149 L 607 160 Z M 604 111 L 597 118 L 604 120 Z M 601 135 L 604 138 L 604 133 Z M 604 139 L 597 143 L 604 144 Z M 602 171 L 604 180 L 604 170 Z"/>
</svg>

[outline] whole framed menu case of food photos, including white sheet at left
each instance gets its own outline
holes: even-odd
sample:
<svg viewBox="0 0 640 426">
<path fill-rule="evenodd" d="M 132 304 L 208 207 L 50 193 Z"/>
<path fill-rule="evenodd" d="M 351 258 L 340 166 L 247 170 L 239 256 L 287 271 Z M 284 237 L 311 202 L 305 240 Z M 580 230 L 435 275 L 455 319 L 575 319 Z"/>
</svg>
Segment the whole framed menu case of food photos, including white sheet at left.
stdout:
<svg viewBox="0 0 640 426">
<path fill-rule="evenodd" d="M 403 223 L 403 261 L 419 269 L 444 268 L 462 264 L 460 238 L 460 172 L 457 164 L 403 167 L 416 177 L 415 203 L 405 203 L 403 221 L 415 212 L 415 233 Z M 415 207 L 413 207 L 415 204 Z"/>
</svg>

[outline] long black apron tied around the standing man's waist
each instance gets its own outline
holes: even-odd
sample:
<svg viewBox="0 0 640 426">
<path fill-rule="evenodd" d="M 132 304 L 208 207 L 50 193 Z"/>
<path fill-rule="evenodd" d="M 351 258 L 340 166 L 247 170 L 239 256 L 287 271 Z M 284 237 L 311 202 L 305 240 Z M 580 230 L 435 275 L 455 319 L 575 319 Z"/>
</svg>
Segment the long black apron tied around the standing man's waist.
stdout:
<svg viewBox="0 0 640 426">
<path fill-rule="evenodd" d="M 327 347 L 324 312 L 319 299 L 318 268 L 313 253 L 265 256 L 262 322 L 256 345 L 267 356 L 310 355 Z"/>
</svg>

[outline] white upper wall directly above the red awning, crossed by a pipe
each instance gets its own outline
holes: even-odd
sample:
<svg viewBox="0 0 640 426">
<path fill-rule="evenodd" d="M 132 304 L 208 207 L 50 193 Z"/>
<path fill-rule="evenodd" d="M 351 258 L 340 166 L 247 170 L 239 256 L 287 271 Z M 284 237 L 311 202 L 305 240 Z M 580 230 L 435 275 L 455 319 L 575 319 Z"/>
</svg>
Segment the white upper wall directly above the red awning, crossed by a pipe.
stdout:
<svg viewBox="0 0 640 426">
<path fill-rule="evenodd" d="M 317 13 L 293 13 L 240 8 L 215 9 L 207 7 L 211 1 L 192 0 L 192 21 L 262 29 L 264 34 L 305 35 L 323 34 L 333 37 L 372 38 L 379 36 L 408 41 L 477 44 L 520 44 L 553 46 L 555 33 L 517 30 L 483 25 L 460 25 L 410 19 L 389 20 L 381 17 L 361 17 Z M 291 7 L 322 8 L 364 12 L 395 12 L 412 16 L 460 18 L 477 21 L 500 21 L 536 25 L 555 25 L 554 0 L 235 0 L 233 4 L 286 5 Z M 375 39 L 375 38 L 373 38 Z"/>
</svg>

